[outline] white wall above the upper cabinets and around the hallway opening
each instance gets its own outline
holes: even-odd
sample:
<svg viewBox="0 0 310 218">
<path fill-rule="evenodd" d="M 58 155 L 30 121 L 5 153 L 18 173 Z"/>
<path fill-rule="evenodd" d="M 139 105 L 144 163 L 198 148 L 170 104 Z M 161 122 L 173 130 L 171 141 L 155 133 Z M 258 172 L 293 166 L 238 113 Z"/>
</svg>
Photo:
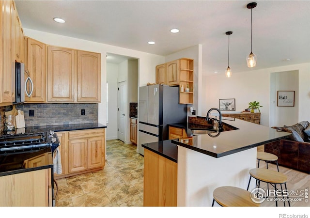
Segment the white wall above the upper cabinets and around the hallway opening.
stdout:
<svg viewBox="0 0 310 218">
<path fill-rule="evenodd" d="M 146 85 L 147 82 L 155 82 L 155 67 L 164 62 L 164 57 L 131 50 L 123 47 L 115 47 L 102 43 L 82 40 L 78 38 L 52 34 L 49 32 L 36 31 L 24 28 L 25 36 L 36 39 L 47 45 L 68 47 L 85 51 L 101 53 L 101 103 L 98 105 L 98 122 L 106 125 L 106 81 L 107 81 L 107 62 L 106 54 L 113 53 L 139 59 L 139 84 Z"/>
</svg>

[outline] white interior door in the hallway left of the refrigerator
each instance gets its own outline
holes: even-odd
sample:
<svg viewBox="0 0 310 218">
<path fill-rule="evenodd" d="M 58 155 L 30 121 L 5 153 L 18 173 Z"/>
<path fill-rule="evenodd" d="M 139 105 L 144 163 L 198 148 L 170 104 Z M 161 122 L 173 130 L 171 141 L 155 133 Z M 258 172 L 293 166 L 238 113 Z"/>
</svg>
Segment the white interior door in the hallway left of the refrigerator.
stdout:
<svg viewBox="0 0 310 218">
<path fill-rule="evenodd" d="M 118 83 L 118 139 L 126 139 L 126 83 Z"/>
</svg>

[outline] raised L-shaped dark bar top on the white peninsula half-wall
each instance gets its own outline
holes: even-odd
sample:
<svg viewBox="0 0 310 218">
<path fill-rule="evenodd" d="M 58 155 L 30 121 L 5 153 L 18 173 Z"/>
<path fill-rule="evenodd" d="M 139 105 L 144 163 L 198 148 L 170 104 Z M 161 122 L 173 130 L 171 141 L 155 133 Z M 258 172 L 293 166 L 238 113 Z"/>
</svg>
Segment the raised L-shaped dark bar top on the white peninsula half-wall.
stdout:
<svg viewBox="0 0 310 218">
<path fill-rule="evenodd" d="M 171 142 L 205 155 L 222 157 L 275 140 L 285 139 L 291 135 L 288 132 L 277 131 L 267 126 L 239 119 L 224 120 L 223 123 L 237 129 L 215 134 L 191 136 L 186 140 L 175 139 L 171 140 Z"/>
</svg>

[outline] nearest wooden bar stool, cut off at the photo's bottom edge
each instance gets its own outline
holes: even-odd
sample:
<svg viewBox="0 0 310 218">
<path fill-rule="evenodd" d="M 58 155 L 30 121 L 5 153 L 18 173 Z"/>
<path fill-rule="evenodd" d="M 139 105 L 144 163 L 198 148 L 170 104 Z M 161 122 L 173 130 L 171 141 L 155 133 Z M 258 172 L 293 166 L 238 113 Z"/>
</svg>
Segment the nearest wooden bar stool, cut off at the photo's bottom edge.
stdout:
<svg viewBox="0 0 310 218">
<path fill-rule="evenodd" d="M 255 203 L 251 199 L 251 192 L 232 186 L 217 187 L 213 191 L 213 202 L 217 202 L 223 207 L 256 207 L 260 203 Z"/>
</svg>

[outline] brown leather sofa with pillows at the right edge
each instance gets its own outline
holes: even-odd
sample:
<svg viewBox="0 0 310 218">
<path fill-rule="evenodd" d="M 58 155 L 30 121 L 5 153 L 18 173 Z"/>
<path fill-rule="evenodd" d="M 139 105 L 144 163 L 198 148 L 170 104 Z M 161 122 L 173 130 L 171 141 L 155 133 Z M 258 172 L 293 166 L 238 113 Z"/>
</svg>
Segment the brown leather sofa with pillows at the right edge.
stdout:
<svg viewBox="0 0 310 218">
<path fill-rule="evenodd" d="M 264 145 L 264 151 L 278 156 L 281 166 L 310 173 L 310 125 L 308 121 L 292 126 L 272 127 L 292 133 L 290 138 Z"/>
</svg>

